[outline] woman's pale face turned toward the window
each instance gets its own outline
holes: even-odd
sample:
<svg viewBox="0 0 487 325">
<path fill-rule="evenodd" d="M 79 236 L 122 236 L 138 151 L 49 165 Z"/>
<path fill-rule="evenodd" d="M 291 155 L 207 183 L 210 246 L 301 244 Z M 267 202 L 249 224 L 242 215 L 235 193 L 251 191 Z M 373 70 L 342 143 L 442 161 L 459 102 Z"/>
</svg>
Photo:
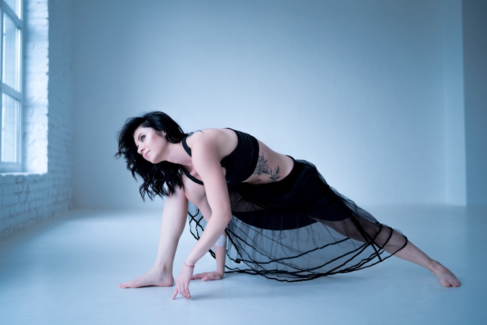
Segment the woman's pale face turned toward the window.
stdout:
<svg viewBox="0 0 487 325">
<path fill-rule="evenodd" d="M 133 133 L 133 140 L 137 147 L 137 153 L 141 154 L 145 160 L 157 164 L 163 161 L 165 149 L 168 146 L 166 133 L 159 135 L 152 128 L 139 126 Z"/>
</svg>

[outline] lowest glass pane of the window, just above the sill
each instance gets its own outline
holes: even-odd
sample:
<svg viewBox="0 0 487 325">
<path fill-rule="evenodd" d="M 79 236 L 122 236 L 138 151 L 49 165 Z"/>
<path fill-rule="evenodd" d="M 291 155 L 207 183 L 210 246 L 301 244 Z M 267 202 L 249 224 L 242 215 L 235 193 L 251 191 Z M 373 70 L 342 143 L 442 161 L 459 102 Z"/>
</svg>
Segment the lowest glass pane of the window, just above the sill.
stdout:
<svg viewBox="0 0 487 325">
<path fill-rule="evenodd" d="M 19 100 L 2 94 L 1 107 L 1 161 L 19 162 Z"/>
</svg>

